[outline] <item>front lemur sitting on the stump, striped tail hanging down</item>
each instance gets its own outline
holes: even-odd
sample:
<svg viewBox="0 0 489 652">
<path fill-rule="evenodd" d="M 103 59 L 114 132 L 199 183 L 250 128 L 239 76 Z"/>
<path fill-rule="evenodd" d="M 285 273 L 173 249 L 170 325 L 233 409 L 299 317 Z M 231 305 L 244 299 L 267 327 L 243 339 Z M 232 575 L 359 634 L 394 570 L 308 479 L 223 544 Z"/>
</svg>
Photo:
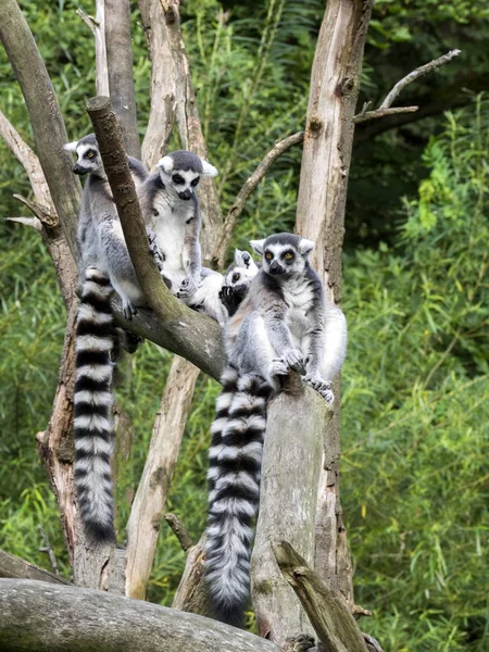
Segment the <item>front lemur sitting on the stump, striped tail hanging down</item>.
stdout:
<svg viewBox="0 0 489 652">
<path fill-rule="evenodd" d="M 347 325 L 326 305 L 309 263 L 314 244 L 291 234 L 251 242 L 260 272 L 225 330 L 228 365 L 211 427 L 205 575 L 214 615 L 242 624 L 249 595 L 266 403 L 291 369 L 328 403 L 346 355 Z"/>
</svg>

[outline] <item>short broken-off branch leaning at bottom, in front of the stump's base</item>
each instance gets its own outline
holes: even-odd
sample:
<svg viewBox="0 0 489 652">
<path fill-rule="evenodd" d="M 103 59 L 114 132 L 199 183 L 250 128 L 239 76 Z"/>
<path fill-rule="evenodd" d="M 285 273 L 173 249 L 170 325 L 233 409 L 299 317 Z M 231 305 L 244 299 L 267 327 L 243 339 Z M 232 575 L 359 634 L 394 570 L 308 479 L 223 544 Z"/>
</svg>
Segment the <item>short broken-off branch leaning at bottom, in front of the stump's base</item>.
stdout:
<svg viewBox="0 0 489 652">
<path fill-rule="evenodd" d="M 272 543 L 272 549 L 278 567 L 301 601 L 323 648 L 331 652 L 367 652 L 363 635 L 346 600 L 311 570 L 290 543 Z"/>
</svg>

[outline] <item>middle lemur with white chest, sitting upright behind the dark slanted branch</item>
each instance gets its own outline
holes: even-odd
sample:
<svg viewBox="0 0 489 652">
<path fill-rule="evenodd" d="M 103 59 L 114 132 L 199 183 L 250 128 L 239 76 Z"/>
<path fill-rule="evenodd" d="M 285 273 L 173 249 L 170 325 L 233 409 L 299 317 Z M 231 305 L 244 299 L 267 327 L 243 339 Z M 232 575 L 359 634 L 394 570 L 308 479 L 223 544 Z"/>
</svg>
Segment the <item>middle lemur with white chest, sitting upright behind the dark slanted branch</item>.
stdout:
<svg viewBox="0 0 489 652">
<path fill-rule="evenodd" d="M 217 170 L 197 154 L 172 152 L 160 160 L 158 172 L 142 185 L 140 203 L 145 222 L 156 236 L 166 286 L 190 308 L 222 322 L 222 276 L 202 267 L 202 220 L 196 195 L 202 177 L 216 175 Z"/>
</svg>

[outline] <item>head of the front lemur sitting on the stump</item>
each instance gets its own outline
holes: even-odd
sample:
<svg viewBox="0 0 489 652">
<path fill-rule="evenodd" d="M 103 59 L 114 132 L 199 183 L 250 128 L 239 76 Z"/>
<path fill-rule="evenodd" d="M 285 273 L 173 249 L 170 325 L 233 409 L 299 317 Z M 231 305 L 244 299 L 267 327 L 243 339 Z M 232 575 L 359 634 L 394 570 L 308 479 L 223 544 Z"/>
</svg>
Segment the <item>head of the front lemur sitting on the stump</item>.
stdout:
<svg viewBox="0 0 489 652">
<path fill-rule="evenodd" d="M 264 240 L 251 240 L 262 256 L 262 269 L 272 276 L 300 274 L 304 271 L 314 242 L 293 234 L 277 234 Z"/>
</svg>

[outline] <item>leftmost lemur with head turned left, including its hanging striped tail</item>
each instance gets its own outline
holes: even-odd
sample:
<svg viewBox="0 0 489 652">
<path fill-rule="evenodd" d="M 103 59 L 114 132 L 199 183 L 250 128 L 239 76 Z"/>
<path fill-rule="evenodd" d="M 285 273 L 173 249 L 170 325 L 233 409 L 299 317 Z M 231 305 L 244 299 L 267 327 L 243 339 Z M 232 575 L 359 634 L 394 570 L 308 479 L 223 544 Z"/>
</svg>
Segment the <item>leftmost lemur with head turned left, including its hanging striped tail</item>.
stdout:
<svg viewBox="0 0 489 652">
<path fill-rule="evenodd" d="M 92 543 L 115 541 L 110 456 L 113 443 L 113 353 L 118 340 L 111 309 L 113 289 L 126 317 L 145 303 L 124 241 L 115 203 L 93 134 L 65 150 L 74 151 L 73 172 L 88 174 L 78 221 L 80 304 L 76 326 L 75 486 L 82 522 Z M 135 185 L 148 176 L 128 156 Z"/>
</svg>

